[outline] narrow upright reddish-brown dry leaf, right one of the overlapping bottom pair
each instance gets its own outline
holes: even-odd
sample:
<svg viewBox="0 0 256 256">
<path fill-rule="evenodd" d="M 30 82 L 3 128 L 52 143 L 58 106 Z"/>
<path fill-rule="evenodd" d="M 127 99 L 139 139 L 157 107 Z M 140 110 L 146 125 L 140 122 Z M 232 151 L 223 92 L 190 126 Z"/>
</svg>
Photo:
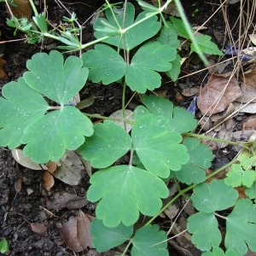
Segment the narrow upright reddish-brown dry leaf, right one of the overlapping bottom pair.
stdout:
<svg viewBox="0 0 256 256">
<path fill-rule="evenodd" d="M 90 219 L 81 210 L 79 211 L 79 216 L 76 218 L 78 219 L 78 239 L 80 245 L 83 247 L 83 249 L 86 249 L 87 247 L 92 248 L 92 237 L 90 236 Z"/>
</svg>

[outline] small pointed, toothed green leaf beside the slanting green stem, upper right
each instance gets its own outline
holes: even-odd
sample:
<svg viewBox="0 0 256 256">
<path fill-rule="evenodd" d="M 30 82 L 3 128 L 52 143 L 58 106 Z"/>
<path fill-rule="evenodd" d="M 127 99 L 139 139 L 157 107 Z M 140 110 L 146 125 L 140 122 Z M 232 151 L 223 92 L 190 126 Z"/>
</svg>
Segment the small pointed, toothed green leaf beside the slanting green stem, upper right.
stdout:
<svg viewBox="0 0 256 256">
<path fill-rule="evenodd" d="M 195 37 L 195 41 L 198 44 L 199 48 L 201 49 L 201 51 L 205 54 L 208 55 L 219 55 L 222 56 L 223 52 L 218 49 L 217 44 L 214 44 L 211 41 L 211 37 L 207 36 L 207 35 L 199 35 Z M 195 47 L 195 43 L 192 42 L 192 44 L 190 45 L 191 49 L 193 51 L 195 51 L 196 53 L 199 53 Z"/>
</svg>

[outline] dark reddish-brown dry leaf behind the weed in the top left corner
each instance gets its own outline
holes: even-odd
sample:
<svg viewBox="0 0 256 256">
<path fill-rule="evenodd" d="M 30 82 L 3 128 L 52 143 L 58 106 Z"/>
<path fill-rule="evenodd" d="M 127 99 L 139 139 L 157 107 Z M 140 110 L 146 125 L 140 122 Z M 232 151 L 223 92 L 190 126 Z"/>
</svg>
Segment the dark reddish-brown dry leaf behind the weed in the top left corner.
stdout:
<svg viewBox="0 0 256 256">
<path fill-rule="evenodd" d="M 27 20 L 31 19 L 32 7 L 28 0 L 15 0 L 17 6 L 9 5 L 13 15 L 17 18 L 26 17 Z M 9 9 L 7 10 L 9 13 Z M 11 14 L 9 14 L 11 16 Z"/>
</svg>

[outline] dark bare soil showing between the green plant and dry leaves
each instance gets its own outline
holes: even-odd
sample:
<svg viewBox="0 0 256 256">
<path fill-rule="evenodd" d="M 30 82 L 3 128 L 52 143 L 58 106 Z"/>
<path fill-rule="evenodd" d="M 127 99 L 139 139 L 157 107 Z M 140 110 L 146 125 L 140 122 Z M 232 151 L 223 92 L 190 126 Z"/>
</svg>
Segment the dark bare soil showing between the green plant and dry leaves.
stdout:
<svg viewBox="0 0 256 256">
<path fill-rule="evenodd" d="M 183 4 L 186 13 L 189 16 L 189 20 L 193 25 L 202 24 L 203 21 L 207 20 L 210 14 L 215 10 L 214 3 L 205 3 L 205 1 L 184 1 Z M 218 1 L 217 1 L 218 2 Z M 71 12 L 75 12 L 81 23 L 87 20 L 96 9 L 98 9 L 104 1 L 88 1 L 79 3 L 72 0 L 67 0 L 64 4 Z M 238 13 L 237 10 L 239 5 L 230 6 L 230 12 L 232 14 Z M 199 9 L 198 15 L 194 18 L 191 17 L 193 10 Z M 52 2 L 49 3 L 49 20 L 60 19 L 62 15 L 67 15 L 65 10 Z M 234 20 L 236 15 L 231 15 Z M 13 39 L 13 31 L 5 25 L 5 20 L 8 15 L 5 13 L 4 4 L 0 5 L 0 30 L 2 31 L 2 40 Z M 214 38 L 214 29 L 219 32 L 224 32 L 224 22 L 221 20 L 222 15 L 219 13 L 214 19 L 207 24 L 207 34 Z M 230 18 L 231 19 L 231 18 Z M 234 22 L 230 20 L 230 22 Z M 18 35 L 22 37 L 22 35 Z M 90 41 L 93 38 L 92 28 L 87 24 L 85 25 L 84 42 Z M 219 45 L 221 48 L 222 45 Z M 8 73 L 9 80 L 16 80 L 22 73 L 26 71 L 26 61 L 32 57 L 32 54 L 39 52 L 40 45 L 25 44 L 24 42 L 14 42 L 5 44 L 4 59 L 7 61 L 5 67 L 6 73 Z M 45 50 L 45 49 L 44 49 Z M 47 50 L 45 50 L 47 51 Z M 42 71 L 44 72 L 44 71 Z M 184 70 L 184 73 L 188 72 Z M 197 74 L 193 79 L 193 82 L 201 84 L 204 79 L 204 73 Z M 7 80 L 0 80 L 0 86 L 6 84 Z M 186 83 L 184 79 L 180 81 Z M 175 103 L 179 105 L 188 106 L 191 99 L 185 99 L 182 102 L 177 102 L 175 94 L 177 87 L 173 90 L 173 84 L 165 82 L 163 79 L 163 85 L 160 90 L 166 90 L 166 95 Z M 97 96 L 96 102 L 87 109 L 88 113 L 100 113 L 109 115 L 115 110 L 120 108 L 121 100 L 121 88 L 119 85 L 113 84 L 109 86 L 102 86 L 101 84 L 90 84 L 85 86 L 82 91 L 82 96 Z M 131 106 L 137 104 L 135 99 Z M 132 107 L 131 107 L 132 108 Z M 226 155 L 226 160 L 218 157 L 217 162 L 229 161 L 234 155 Z M 219 167 L 219 166 L 218 166 Z M 55 180 L 55 186 L 50 190 L 46 191 L 42 188 L 43 172 L 28 170 L 22 166 L 17 166 L 12 155 L 6 148 L 0 148 L 0 239 L 5 237 L 9 241 L 9 253 L 8 255 L 50 255 L 50 256 L 61 256 L 61 255 L 87 255 L 84 253 L 74 254 L 67 248 L 65 242 L 61 239 L 60 228 L 61 225 L 67 222 L 69 218 L 77 216 L 79 209 L 68 210 L 67 208 L 62 209 L 59 212 L 54 212 L 55 216 L 49 214 L 44 210 L 47 201 L 53 200 L 53 195 L 56 192 L 68 192 L 84 196 L 85 191 L 88 189 L 89 178 L 84 174 L 84 180 L 79 186 L 69 186 L 65 183 L 61 183 Z M 22 187 L 20 192 L 16 192 L 15 183 L 21 178 Z M 30 190 L 32 189 L 32 190 Z M 28 191 L 31 194 L 28 194 Z M 87 204 L 82 210 L 86 213 L 93 215 L 93 205 Z M 158 219 L 158 221 L 160 221 Z M 32 232 L 31 223 L 41 223 L 48 227 L 47 234 L 40 236 L 37 233 Z M 161 225 L 161 224 L 160 224 Z M 170 255 L 182 255 L 178 253 L 172 246 L 170 246 Z M 107 254 L 105 254 L 107 255 Z"/>
</svg>

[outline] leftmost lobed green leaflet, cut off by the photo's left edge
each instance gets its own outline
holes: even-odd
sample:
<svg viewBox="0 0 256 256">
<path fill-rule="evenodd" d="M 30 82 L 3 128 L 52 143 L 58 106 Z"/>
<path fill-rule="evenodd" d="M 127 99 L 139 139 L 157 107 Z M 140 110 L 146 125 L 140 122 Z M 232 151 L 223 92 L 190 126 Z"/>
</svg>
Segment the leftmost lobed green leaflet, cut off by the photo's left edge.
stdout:
<svg viewBox="0 0 256 256">
<path fill-rule="evenodd" d="M 5 98 L 0 97 L 0 145 L 17 148 L 26 126 L 44 116 L 49 106 L 23 78 L 5 84 L 2 95 Z"/>
</svg>

